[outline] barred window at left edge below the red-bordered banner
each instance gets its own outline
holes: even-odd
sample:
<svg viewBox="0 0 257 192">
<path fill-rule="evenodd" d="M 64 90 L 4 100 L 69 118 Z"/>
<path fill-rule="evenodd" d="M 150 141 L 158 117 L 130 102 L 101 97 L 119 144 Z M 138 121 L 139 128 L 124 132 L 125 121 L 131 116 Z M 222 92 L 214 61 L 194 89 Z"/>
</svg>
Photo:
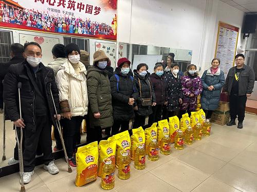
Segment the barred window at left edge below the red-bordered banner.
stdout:
<svg viewBox="0 0 257 192">
<path fill-rule="evenodd" d="M 10 47 L 12 44 L 12 33 L 0 30 L 0 62 L 10 61 Z"/>
</svg>

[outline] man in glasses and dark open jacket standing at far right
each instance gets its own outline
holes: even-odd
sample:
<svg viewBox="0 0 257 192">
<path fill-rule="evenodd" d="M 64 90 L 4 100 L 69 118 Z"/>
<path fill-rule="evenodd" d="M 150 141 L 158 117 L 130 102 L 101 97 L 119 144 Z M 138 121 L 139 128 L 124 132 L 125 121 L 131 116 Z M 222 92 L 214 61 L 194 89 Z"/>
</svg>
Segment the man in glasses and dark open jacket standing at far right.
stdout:
<svg viewBox="0 0 257 192">
<path fill-rule="evenodd" d="M 247 97 L 251 96 L 255 75 L 253 69 L 245 65 L 245 56 L 237 54 L 235 56 L 236 66 L 229 69 L 224 91 L 230 99 L 230 118 L 227 126 L 235 125 L 235 118 L 238 118 L 238 129 L 243 128 L 245 118 L 245 106 Z"/>
</svg>

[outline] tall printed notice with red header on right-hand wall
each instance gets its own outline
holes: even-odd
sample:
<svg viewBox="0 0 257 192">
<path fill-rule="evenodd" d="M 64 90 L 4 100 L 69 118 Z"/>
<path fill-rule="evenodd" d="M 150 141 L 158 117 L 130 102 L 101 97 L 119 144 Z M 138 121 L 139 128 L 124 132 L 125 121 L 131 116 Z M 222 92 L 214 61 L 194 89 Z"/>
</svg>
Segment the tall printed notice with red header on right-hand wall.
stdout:
<svg viewBox="0 0 257 192">
<path fill-rule="evenodd" d="M 219 22 L 215 57 L 221 59 L 221 70 L 227 75 L 234 64 L 239 28 Z"/>
</svg>

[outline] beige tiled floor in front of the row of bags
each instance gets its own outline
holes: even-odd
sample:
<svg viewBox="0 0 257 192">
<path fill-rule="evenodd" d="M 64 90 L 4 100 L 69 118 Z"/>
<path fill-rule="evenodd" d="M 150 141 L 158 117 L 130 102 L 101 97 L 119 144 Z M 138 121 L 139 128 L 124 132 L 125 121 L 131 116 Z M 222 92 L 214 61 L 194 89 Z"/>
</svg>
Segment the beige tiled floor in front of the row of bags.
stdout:
<svg viewBox="0 0 257 192">
<path fill-rule="evenodd" d="M 212 125 L 210 137 L 204 137 L 183 150 L 172 149 L 157 162 L 147 161 L 145 170 L 131 170 L 131 178 L 117 177 L 110 191 L 257 191 L 257 116 L 246 114 L 244 128 Z M 50 176 L 36 167 L 27 191 L 104 191 L 100 179 L 76 187 L 76 168 L 66 171 L 64 160 L 56 161 L 60 173 Z M 19 174 L 0 178 L 1 191 L 19 191 Z"/>
</svg>

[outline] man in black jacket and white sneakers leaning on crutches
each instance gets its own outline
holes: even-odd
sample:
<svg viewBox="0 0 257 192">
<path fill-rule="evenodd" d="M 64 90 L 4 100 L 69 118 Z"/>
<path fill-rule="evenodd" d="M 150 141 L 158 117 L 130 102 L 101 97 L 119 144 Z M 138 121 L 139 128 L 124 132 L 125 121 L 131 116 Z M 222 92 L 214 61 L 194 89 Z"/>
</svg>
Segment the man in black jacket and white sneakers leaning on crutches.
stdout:
<svg viewBox="0 0 257 192">
<path fill-rule="evenodd" d="M 51 125 L 56 125 L 56 123 L 50 89 L 58 112 L 59 97 L 53 70 L 45 67 L 41 62 L 41 46 L 35 42 L 25 43 L 24 50 L 23 56 L 26 60 L 11 65 L 5 76 L 4 102 L 11 121 L 18 129 L 22 128 L 25 133 L 23 179 L 24 183 L 29 183 L 34 173 L 34 160 L 38 144 L 44 153 L 44 169 L 48 170 L 50 174 L 59 172 L 58 167 L 53 163 L 51 148 Z M 18 82 L 22 83 L 22 119 L 19 114 Z M 56 118 L 60 119 L 60 115 Z"/>
</svg>

